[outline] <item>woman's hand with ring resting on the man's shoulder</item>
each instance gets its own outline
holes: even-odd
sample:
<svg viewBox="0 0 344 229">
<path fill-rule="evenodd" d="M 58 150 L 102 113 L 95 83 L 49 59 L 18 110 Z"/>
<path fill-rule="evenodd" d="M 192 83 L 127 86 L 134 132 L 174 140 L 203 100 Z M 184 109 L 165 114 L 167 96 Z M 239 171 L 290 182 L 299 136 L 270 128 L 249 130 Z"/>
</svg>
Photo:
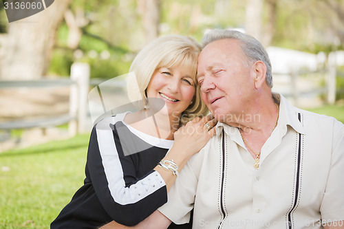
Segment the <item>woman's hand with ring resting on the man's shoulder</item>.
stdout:
<svg viewBox="0 0 344 229">
<path fill-rule="evenodd" d="M 191 157 L 198 153 L 206 142 L 215 135 L 215 128 L 213 127 L 216 124 L 217 120 L 211 115 L 194 118 L 185 126 L 180 127 L 178 131 L 175 131 L 173 148 L 184 151 Z"/>
</svg>

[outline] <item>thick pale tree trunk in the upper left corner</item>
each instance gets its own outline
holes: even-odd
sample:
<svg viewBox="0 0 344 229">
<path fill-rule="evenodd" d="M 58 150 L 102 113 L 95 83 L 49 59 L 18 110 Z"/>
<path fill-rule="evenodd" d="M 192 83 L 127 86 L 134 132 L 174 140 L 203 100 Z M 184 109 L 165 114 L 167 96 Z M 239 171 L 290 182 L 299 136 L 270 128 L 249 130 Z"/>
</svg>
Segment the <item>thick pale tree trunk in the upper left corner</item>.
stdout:
<svg viewBox="0 0 344 229">
<path fill-rule="evenodd" d="M 38 14 L 10 23 L 1 79 L 32 80 L 46 74 L 58 26 L 71 1 L 55 1 Z"/>
</svg>

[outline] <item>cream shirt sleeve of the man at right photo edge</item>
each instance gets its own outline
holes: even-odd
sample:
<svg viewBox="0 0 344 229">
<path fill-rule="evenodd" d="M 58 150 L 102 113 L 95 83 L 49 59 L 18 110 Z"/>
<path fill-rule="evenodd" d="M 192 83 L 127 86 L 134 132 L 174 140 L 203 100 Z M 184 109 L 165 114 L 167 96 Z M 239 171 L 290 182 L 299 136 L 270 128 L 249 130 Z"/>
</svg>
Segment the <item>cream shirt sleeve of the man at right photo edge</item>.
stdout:
<svg viewBox="0 0 344 229">
<path fill-rule="evenodd" d="M 324 223 L 344 220 L 344 125 L 336 120 L 332 139 L 330 173 L 320 209 Z"/>
</svg>

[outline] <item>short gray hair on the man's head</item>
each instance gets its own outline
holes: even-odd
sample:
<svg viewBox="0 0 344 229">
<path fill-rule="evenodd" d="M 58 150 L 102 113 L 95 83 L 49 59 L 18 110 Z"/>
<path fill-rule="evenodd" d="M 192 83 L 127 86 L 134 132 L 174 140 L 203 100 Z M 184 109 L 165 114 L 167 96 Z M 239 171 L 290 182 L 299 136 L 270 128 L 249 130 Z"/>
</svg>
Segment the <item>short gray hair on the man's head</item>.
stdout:
<svg viewBox="0 0 344 229">
<path fill-rule="evenodd" d="M 248 58 L 250 64 L 262 61 L 266 65 L 266 84 L 272 88 L 272 67 L 265 48 L 254 37 L 236 30 L 211 30 L 202 39 L 203 47 L 213 41 L 222 39 L 237 39 L 241 43 L 241 50 Z"/>
</svg>

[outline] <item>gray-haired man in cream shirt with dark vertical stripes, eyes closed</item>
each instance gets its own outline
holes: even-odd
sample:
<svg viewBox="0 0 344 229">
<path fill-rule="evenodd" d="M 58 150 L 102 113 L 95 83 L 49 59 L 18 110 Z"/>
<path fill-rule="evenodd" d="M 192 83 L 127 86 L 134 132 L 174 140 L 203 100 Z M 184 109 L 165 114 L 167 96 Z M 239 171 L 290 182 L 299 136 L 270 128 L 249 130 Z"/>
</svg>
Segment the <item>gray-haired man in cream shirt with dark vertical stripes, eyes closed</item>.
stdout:
<svg viewBox="0 0 344 229">
<path fill-rule="evenodd" d="M 197 80 L 219 120 L 169 201 L 137 228 L 344 228 L 344 125 L 273 94 L 264 47 L 247 34 L 203 39 Z"/>
</svg>

